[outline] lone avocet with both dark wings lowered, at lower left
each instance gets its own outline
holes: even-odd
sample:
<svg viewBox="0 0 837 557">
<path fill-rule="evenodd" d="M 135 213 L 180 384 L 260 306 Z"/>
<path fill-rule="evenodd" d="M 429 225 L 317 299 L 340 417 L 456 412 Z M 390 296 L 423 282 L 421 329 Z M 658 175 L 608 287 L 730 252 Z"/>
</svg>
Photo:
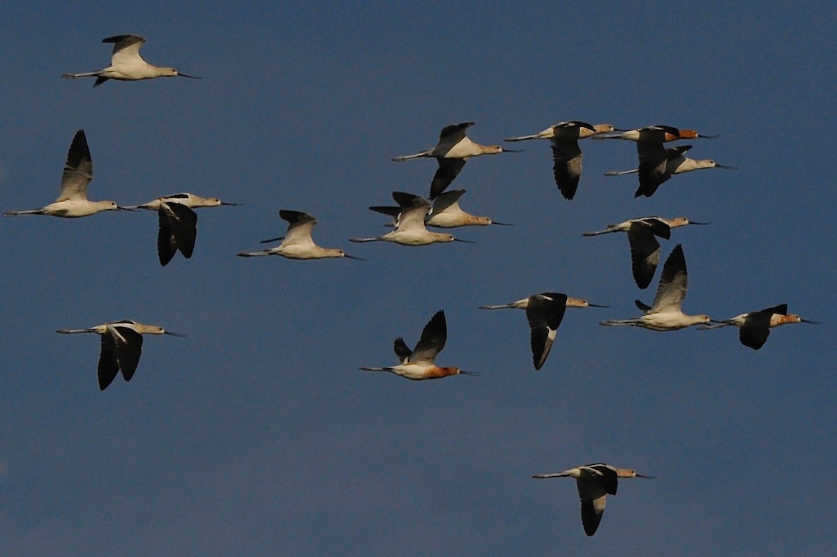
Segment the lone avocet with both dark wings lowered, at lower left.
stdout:
<svg viewBox="0 0 837 557">
<path fill-rule="evenodd" d="M 90 327 L 90 329 L 59 329 L 59 333 L 95 333 L 102 337 L 99 356 L 99 388 L 104 391 L 122 370 L 125 381 L 131 381 L 140 363 L 142 335 L 178 335 L 157 325 L 146 325 L 125 319 Z"/>
</svg>

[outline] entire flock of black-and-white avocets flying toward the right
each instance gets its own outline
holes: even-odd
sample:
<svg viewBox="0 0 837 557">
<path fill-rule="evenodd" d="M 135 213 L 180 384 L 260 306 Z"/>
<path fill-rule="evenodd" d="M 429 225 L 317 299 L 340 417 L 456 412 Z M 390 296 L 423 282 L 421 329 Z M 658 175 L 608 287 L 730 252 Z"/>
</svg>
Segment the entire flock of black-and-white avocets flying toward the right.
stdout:
<svg viewBox="0 0 837 557">
<path fill-rule="evenodd" d="M 118 35 L 105 38 L 103 43 L 113 43 L 110 66 L 81 74 L 63 74 L 67 79 L 95 77 L 94 87 L 108 79 L 136 80 L 156 77 L 186 75 L 173 68 L 158 68 L 141 59 L 139 50 L 145 38 L 137 35 Z M 429 197 L 425 199 L 406 192 L 393 192 L 395 206 L 369 207 L 372 211 L 392 217 L 390 226 L 393 230 L 382 236 L 372 238 L 350 238 L 355 243 L 383 241 L 407 246 L 422 246 L 431 243 L 466 242 L 454 238 L 449 233 L 436 233 L 427 227 L 453 228 L 464 226 L 502 225 L 489 217 L 477 217 L 465 212 L 459 205 L 465 190 L 446 191 L 456 176 L 460 174 L 465 162 L 472 157 L 494 155 L 505 152 L 519 152 L 501 146 L 483 146 L 465 134 L 473 122 L 445 126 L 439 134 L 439 141 L 431 149 L 413 155 L 396 156 L 393 161 L 408 161 L 418 158 L 434 158 L 439 164 L 430 182 Z M 683 130 L 667 125 L 651 125 L 635 130 L 619 130 L 613 125 L 590 125 L 581 121 L 561 122 L 533 135 L 508 137 L 506 141 L 527 141 L 547 139 L 552 145 L 553 175 L 559 192 L 567 200 L 572 200 L 578 191 L 582 174 L 582 151 L 578 140 L 621 139 L 634 141 L 639 156 L 639 166 L 627 171 L 613 171 L 606 176 L 622 176 L 636 173 L 639 188 L 634 197 L 651 197 L 661 184 L 672 176 L 685 172 L 709 168 L 732 169 L 732 166 L 716 164 L 711 160 L 694 160 L 684 156 L 691 146 L 679 146 L 666 149 L 664 144 L 677 140 L 714 138 L 714 135 L 701 135 L 694 130 Z M 87 217 L 101 211 L 157 211 L 158 233 L 157 254 L 162 266 L 171 262 L 177 251 L 183 257 L 191 258 L 197 238 L 198 217 L 193 209 L 198 207 L 219 207 L 237 205 L 222 202 L 217 197 L 199 197 L 193 193 L 177 193 L 158 197 L 141 205 L 119 206 L 116 202 L 91 202 L 87 199 L 87 188 L 93 180 L 93 162 L 84 130 L 78 130 L 69 146 L 67 161 L 61 176 L 59 197 L 55 202 L 39 209 L 28 211 L 8 211 L 5 216 L 48 215 L 52 217 Z M 432 203 L 431 203 L 432 202 Z M 337 248 L 322 248 L 314 243 L 311 232 L 316 225 L 316 218 L 306 212 L 280 210 L 280 217 L 288 222 L 284 237 L 264 240 L 263 243 L 280 241 L 280 245 L 257 252 L 238 253 L 241 257 L 280 255 L 292 259 L 316 258 L 352 258 L 361 259 L 344 253 Z M 598 236 L 606 233 L 624 232 L 628 235 L 634 281 L 639 289 L 646 289 L 655 275 L 660 261 L 660 243 L 656 238 L 670 239 L 671 230 L 688 224 L 706 224 L 691 222 L 686 217 L 633 218 L 618 224 L 612 224 L 597 232 L 584 233 L 584 236 Z M 639 317 L 630 319 L 611 319 L 602 321 L 603 325 L 632 325 L 649 330 L 679 330 L 691 325 L 701 324 L 704 329 L 736 326 L 742 345 L 754 350 L 761 348 L 770 334 L 770 330 L 782 324 L 816 323 L 802 319 L 796 314 L 788 314 L 787 304 L 778 304 L 771 308 L 737 315 L 732 319 L 713 321 L 706 314 L 688 315 L 681 310 L 686 297 L 687 272 L 683 248 L 677 244 L 663 265 L 655 298 L 651 305 L 636 301 L 643 311 Z M 510 304 L 483 305 L 480 309 L 524 309 L 531 329 L 532 363 L 540 370 L 547 360 L 547 355 L 556 338 L 557 330 L 567 308 L 586 308 L 608 306 L 590 304 L 584 299 L 574 299 L 567 294 L 546 292 L 532 294 Z M 132 320 L 113 321 L 96 325 L 88 329 L 61 329 L 63 334 L 95 333 L 101 337 L 101 350 L 98 365 L 100 390 L 104 391 L 121 370 L 125 381 L 131 381 L 140 360 L 142 335 L 178 335 L 157 325 L 137 323 Z M 444 349 L 447 340 L 447 323 L 444 311 L 439 310 L 424 326 L 421 338 L 412 350 L 403 338 L 398 337 L 393 343 L 393 350 L 398 357 L 398 365 L 384 367 L 362 367 L 362 370 L 388 371 L 410 380 L 438 379 L 454 375 L 477 375 L 472 371 L 458 367 L 442 367 L 435 364 L 435 358 Z M 619 478 L 652 478 L 640 475 L 633 470 L 616 468 L 608 464 L 594 463 L 570 468 L 559 473 L 538 474 L 533 478 L 576 478 L 578 494 L 581 498 L 581 514 L 584 532 L 595 534 L 602 519 L 605 498 L 615 495 Z"/>
</svg>

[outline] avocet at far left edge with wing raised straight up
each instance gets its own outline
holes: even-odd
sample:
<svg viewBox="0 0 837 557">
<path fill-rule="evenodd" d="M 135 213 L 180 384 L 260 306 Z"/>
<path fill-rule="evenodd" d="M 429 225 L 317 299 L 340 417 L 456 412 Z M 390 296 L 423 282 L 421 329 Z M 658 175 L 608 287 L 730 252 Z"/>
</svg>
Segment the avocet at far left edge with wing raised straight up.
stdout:
<svg viewBox="0 0 837 557">
<path fill-rule="evenodd" d="M 50 217 L 87 217 L 100 211 L 121 210 L 129 211 L 127 207 L 119 207 L 115 202 L 87 201 L 87 187 L 93 180 L 93 160 L 90 158 L 90 147 L 87 146 L 85 130 L 75 132 L 73 142 L 67 152 L 67 164 L 61 173 L 61 192 L 54 203 L 42 209 L 32 211 L 7 211 L 3 215 L 49 215 Z"/>
</svg>

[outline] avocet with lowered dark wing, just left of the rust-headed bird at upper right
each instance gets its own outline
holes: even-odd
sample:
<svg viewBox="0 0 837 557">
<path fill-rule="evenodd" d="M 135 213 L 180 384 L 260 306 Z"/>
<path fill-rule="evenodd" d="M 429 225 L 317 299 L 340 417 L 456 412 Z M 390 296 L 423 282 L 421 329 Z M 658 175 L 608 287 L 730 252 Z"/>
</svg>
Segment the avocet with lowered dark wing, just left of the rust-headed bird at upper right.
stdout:
<svg viewBox="0 0 837 557">
<path fill-rule="evenodd" d="M 558 191 L 565 199 L 573 199 L 581 177 L 583 154 L 578 148 L 578 140 L 614 130 L 610 124 L 591 125 L 586 122 L 570 121 L 549 126 L 534 135 L 506 137 L 505 141 L 524 141 L 530 139 L 548 139 L 552 141 L 552 173 Z"/>
</svg>

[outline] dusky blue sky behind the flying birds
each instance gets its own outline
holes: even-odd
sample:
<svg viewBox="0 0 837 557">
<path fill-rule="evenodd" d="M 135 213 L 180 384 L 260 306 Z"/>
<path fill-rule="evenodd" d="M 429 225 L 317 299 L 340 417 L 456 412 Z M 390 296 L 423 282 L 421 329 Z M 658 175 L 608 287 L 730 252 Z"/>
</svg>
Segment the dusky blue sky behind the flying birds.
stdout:
<svg viewBox="0 0 837 557">
<path fill-rule="evenodd" d="M 193 258 L 157 263 L 157 216 L 3 218 L 0 553 L 26 555 L 827 554 L 837 535 L 834 444 L 835 15 L 828 3 L 7 3 L 0 29 L 0 207 L 52 202 L 85 129 L 90 198 L 194 192 Z M 151 64 L 201 80 L 63 80 L 107 65 L 101 38 L 138 33 Z M 474 121 L 496 144 L 562 120 L 720 134 L 689 155 L 738 166 L 675 176 L 634 199 L 626 141 L 581 145 L 565 201 L 546 141 L 469 162 L 462 205 L 512 227 L 424 248 L 368 211 L 426 195 L 434 161 L 392 156 Z M 509 144 L 511 146 L 511 144 Z M 367 261 L 236 258 L 311 212 L 314 237 Z M 684 310 L 727 319 L 788 303 L 819 326 L 762 350 L 732 329 L 605 328 L 650 302 L 623 235 L 581 233 L 660 214 L 675 230 Z M 542 370 L 520 311 L 567 309 Z M 479 377 L 405 381 L 396 363 L 438 310 L 440 365 Z M 116 319 L 148 337 L 130 384 L 96 386 Z M 655 475 L 608 498 L 588 539 L 572 480 L 585 462 Z"/>
</svg>

